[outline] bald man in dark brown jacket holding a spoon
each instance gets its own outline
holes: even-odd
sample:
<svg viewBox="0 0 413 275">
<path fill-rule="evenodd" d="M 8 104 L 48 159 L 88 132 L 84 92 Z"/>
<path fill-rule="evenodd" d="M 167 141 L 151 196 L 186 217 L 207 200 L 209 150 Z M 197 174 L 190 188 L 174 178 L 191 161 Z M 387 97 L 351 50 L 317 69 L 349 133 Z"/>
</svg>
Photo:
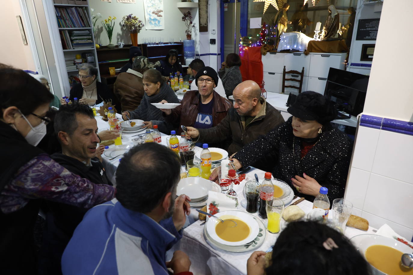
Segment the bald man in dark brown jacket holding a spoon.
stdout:
<svg viewBox="0 0 413 275">
<path fill-rule="evenodd" d="M 228 110 L 227 115 L 218 125 L 208 129 L 188 127 L 188 138 L 191 136 L 194 141 L 201 143 L 230 140 L 228 148 L 223 149 L 232 155 L 247 143 L 284 122 L 280 111 L 261 96 L 261 89 L 256 82 L 252 80 L 241 82 L 235 87 L 233 96 L 234 106 Z M 261 160 L 260 163 L 252 166 L 266 168 L 268 161 L 268 159 Z"/>
</svg>

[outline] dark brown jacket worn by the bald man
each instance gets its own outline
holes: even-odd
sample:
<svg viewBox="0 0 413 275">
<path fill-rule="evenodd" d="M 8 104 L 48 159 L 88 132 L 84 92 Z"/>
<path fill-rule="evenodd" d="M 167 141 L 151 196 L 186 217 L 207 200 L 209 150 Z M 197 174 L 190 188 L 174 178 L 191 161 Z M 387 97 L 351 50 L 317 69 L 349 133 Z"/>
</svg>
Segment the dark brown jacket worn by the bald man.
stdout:
<svg viewBox="0 0 413 275">
<path fill-rule="evenodd" d="M 267 134 L 278 125 L 284 123 L 284 118 L 282 118 L 279 110 L 266 102 L 263 97 L 261 97 L 260 102 L 263 104 L 261 110 L 248 125 L 245 125 L 244 118 L 238 115 L 234 108 L 231 108 L 227 116 L 216 127 L 198 129 L 199 137 L 194 139 L 194 141 L 217 143 L 230 137 L 232 142 L 228 149 L 224 149 L 228 151 L 228 155 L 232 155 L 248 143 L 256 140 L 259 136 Z M 274 166 L 273 161 L 275 158 L 275 154 L 268 155 L 263 160 L 252 164 L 252 166 L 269 171 L 268 169 Z"/>
</svg>

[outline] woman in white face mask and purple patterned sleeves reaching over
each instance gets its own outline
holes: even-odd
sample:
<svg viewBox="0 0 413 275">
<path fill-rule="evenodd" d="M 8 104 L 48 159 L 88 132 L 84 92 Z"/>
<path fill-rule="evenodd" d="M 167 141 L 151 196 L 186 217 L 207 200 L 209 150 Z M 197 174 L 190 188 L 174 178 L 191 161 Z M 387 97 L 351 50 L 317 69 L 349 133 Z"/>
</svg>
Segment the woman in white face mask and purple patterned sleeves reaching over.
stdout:
<svg viewBox="0 0 413 275">
<path fill-rule="evenodd" d="M 27 73 L 0 63 L 0 257 L 5 274 L 36 274 L 33 226 L 38 200 L 91 208 L 114 197 L 64 169 L 35 146 L 46 134 L 52 94 Z"/>
</svg>

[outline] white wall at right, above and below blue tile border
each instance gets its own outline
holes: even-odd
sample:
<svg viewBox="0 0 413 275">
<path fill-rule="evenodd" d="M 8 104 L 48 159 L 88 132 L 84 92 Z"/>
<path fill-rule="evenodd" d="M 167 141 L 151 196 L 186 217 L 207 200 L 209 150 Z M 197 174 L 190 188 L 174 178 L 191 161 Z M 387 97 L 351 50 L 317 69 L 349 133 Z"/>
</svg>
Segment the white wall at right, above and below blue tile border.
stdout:
<svg viewBox="0 0 413 275">
<path fill-rule="evenodd" d="M 403 7 L 403 8 L 401 8 Z M 413 1 L 384 1 L 363 114 L 413 122 L 409 75 L 413 56 L 403 47 L 412 38 L 399 26 L 410 24 Z M 404 75 L 403 75 L 404 74 Z M 404 80 L 399 80 L 401 76 Z M 382 120 L 378 121 L 380 128 Z M 413 135 L 358 126 L 345 198 L 353 214 L 370 226 L 389 224 L 411 240 L 413 236 Z"/>
</svg>

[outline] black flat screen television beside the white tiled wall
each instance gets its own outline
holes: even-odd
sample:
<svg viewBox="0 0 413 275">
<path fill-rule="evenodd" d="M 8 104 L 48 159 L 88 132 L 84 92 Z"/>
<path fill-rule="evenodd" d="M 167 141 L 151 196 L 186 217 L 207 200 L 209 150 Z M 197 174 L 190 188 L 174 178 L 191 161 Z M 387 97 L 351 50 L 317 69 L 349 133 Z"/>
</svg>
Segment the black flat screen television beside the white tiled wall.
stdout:
<svg viewBox="0 0 413 275">
<path fill-rule="evenodd" d="M 349 115 L 357 116 L 363 112 L 368 78 L 368 75 L 330 68 L 324 95 L 334 102 L 337 118 L 349 118 Z"/>
</svg>

